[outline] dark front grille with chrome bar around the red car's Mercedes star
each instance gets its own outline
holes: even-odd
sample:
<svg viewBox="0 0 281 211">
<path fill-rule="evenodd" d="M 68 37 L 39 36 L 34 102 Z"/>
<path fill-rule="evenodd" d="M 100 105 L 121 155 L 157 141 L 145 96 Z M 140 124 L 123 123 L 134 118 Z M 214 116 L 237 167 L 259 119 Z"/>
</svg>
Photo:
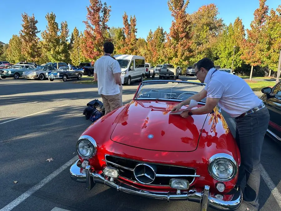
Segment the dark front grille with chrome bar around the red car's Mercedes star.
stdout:
<svg viewBox="0 0 281 211">
<path fill-rule="evenodd" d="M 104 161 L 106 161 L 107 166 L 117 168 L 121 177 L 127 178 L 137 183 L 138 181 L 136 180 L 133 173 L 134 168 L 137 164 L 145 163 L 111 155 L 106 155 Z M 152 183 L 150 183 L 150 185 L 169 186 L 169 181 L 171 178 L 180 178 L 188 180 L 191 185 L 195 177 L 200 177 L 200 175 L 196 175 L 196 170 L 194 168 L 163 165 L 157 163 L 146 164 L 154 166 L 156 172 L 156 178 Z"/>
</svg>

